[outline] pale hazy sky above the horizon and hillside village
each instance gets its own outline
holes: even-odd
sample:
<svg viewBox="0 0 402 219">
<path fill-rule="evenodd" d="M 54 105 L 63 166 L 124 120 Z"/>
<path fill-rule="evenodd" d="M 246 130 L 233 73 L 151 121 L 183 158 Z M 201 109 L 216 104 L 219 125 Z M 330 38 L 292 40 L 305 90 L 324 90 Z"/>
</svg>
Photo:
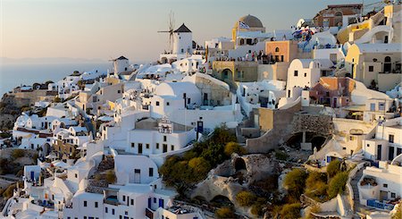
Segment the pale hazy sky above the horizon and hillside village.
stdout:
<svg viewBox="0 0 402 219">
<path fill-rule="evenodd" d="M 379 0 L 364 0 L 364 4 Z M 125 55 L 154 61 L 168 46 L 169 13 L 200 45 L 230 37 L 240 17 L 259 18 L 267 31 L 289 29 L 327 4 L 359 0 L 0 0 L 0 57 L 102 59 Z"/>
</svg>

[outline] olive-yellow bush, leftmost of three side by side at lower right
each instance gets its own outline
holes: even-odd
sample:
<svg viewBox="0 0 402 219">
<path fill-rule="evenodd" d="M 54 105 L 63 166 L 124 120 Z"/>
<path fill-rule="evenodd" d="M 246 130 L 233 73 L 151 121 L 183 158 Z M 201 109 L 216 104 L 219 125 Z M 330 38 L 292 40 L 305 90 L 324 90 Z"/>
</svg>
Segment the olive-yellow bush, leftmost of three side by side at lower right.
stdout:
<svg viewBox="0 0 402 219">
<path fill-rule="evenodd" d="M 284 185 L 288 188 L 290 196 L 298 199 L 305 189 L 306 171 L 295 168 L 285 176 Z"/>
</svg>

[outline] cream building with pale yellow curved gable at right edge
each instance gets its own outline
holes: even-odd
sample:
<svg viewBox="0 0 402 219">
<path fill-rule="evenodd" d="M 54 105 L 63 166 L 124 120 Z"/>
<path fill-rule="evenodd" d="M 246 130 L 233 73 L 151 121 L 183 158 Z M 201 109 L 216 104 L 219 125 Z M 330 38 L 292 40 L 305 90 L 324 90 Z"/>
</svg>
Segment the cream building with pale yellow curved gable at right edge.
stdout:
<svg viewBox="0 0 402 219">
<path fill-rule="evenodd" d="M 400 83 L 401 44 L 355 44 L 348 49 L 345 66 L 350 76 L 364 83 L 386 91 Z"/>
</svg>

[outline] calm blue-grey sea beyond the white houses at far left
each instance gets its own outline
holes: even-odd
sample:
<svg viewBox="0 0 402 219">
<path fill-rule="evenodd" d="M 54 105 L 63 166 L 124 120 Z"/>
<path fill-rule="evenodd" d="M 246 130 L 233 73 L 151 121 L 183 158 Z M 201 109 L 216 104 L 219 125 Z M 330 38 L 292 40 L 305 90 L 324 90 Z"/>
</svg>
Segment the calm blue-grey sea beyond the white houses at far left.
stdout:
<svg viewBox="0 0 402 219">
<path fill-rule="evenodd" d="M 21 85 L 62 80 L 74 71 L 107 72 L 110 68 L 111 63 L 0 63 L 0 97 Z"/>
</svg>

